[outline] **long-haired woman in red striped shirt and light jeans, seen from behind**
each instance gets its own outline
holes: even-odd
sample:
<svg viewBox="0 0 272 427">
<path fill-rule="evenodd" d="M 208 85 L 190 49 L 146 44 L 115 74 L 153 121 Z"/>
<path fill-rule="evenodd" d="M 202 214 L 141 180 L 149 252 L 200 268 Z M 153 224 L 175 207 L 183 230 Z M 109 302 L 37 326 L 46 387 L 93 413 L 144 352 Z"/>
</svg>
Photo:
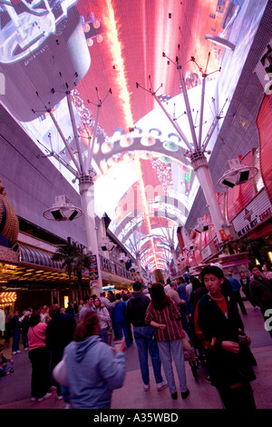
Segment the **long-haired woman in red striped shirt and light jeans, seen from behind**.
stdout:
<svg viewBox="0 0 272 427">
<path fill-rule="evenodd" d="M 166 295 L 163 286 L 151 286 L 151 303 L 147 308 L 145 322 L 155 328 L 156 340 L 159 346 L 160 359 L 169 385 L 172 399 L 178 398 L 176 383 L 172 369 L 172 359 L 175 362 L 180 380 L 182 399 L 189 396 L 187 387 L 185 362 L 181 338 L 185 337 L 182 328 L 180 311 L 177 304 Z"/>
</svg>

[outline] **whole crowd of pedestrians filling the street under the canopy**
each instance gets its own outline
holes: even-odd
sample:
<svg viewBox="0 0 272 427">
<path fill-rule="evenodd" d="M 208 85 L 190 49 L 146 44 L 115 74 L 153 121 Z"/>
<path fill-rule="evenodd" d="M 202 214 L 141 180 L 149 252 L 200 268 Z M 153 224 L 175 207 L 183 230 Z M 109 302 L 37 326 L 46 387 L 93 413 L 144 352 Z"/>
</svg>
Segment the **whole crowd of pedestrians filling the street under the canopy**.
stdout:
<svg viewBox="0 0 272 427">
<path fill-rule="evenodd" d="M 253 266 L 251 275 L 241 271 L 238 280 L 231 272 L 226 277 L 216 263 L 205 267 L 199 279 L 187 276 L 149 288 L 135 282 L 132 291 L 88 295 L 66 309 L 54 303 L 36 311 L 28 308 L 21 317 L 18 311 L 12 316 L 6 309 L 5 343 L 12 339 L 15 355 L 20 353 L 22 337 L 32 365 L 32 401 L 50 398 L 54 389 L 67 408 L 110 408 L 112 391 L 125 379 L 125 349 L 133 341 L 143 391 L 150 390 L 152 371 L 159 392 L 168 387 L 173 400 L 179 394 L 187 399 L 182 339 L 188 337 L 192 345 L 198 341 L 207 378 L 218 389 L 223 407 L 255 409 L 250 382 L 257 362 L 241 318 L 247 314 L 241 291 L 266 319 L 267 309 L 272 308 L 267 273 Z M 3 374 L 7 366 L 12 372 L 13 361 L 4 362 Z M 65 383 L 53 374 L 60 362 L 66 366 Z"/>
</svg>

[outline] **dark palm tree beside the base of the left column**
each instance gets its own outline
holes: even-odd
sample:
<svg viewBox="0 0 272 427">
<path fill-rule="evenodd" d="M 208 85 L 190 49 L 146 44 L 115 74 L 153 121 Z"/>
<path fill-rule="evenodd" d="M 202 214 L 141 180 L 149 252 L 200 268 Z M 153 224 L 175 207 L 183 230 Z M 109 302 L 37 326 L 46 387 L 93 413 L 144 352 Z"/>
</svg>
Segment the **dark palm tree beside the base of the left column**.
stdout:
<svg viewBox="0 0 272 427">
<path fill-rule="evenodd" d="M 83 249 L 75 244 L 66 243 L 53 254 L 53 261 L 61 261 L 62 268 L 66 270 L 69 277 L 69 300 L 72 301 L 72 274 L 76 274 L 79 283 L 80 298 L 82 295 L 83 270 L 91 268 L 91 254 L 83 253 Z"/>
</svg>

